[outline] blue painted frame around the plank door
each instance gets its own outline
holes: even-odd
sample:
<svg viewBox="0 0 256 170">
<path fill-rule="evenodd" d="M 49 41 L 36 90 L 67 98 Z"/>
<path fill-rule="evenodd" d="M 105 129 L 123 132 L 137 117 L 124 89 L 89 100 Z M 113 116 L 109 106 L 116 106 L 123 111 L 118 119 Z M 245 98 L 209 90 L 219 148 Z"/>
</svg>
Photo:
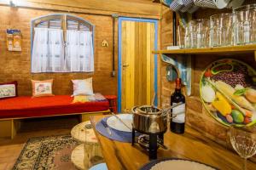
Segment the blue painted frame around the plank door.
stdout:
<svg viewBox="0 0 256 170">
<path fill-rule="evenodd" d="M 119 17 L 119 53 L 118 53 L 118 112 L 121 111 L 122 103 L 122 21 L 129 20 L 135 22 L 150 22 L 154 23 L 154 50 L 157 50 L 158 42 L 158 20 L 154 19 L 138 19 L 138 18 L 129 18 L 129 17 Z M 154 54 L 154 93 L 157 96 L 157 54 Z M 154 105 L 158 105 L 157 97 L 154 99 Z"/>
</svg>

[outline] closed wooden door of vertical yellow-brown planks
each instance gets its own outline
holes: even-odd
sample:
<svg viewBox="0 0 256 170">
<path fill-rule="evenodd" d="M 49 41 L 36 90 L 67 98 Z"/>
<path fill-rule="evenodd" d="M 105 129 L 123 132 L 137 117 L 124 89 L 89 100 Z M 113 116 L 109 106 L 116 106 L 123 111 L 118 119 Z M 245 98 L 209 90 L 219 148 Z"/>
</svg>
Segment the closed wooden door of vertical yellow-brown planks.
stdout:
<svg viewBox="0 0 256 170">
<path fill-rule="evenodd" d="M 154 96 L 155 26 L 150 22 L 121 23 L 121 111 L 151 105 Z"/>
</svg>

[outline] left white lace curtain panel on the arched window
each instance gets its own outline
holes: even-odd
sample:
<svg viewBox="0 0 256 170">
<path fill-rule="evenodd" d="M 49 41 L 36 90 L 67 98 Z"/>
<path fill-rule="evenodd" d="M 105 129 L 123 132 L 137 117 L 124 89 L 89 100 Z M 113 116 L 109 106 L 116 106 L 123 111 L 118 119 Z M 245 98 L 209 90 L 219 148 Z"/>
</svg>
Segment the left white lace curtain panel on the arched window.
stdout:
<svg viewBox="0 0 256 170">
<path fill-rule="evenodd" d="M 63 71 L 63 31 L 35 28 L 32 48 L 32 72 Z"/>
</svg>

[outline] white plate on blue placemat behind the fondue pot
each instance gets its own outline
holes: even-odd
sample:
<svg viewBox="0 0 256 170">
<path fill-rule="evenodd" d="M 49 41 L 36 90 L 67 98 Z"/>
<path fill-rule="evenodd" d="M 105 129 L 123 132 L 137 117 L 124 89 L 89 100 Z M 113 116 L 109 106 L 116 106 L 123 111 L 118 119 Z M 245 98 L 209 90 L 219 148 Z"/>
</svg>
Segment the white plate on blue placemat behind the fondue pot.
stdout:
<svg viewBox="0 0 256 170">
<path fill-rule="evenodd" d="M 117 114 L 116 116 L 119 116 L 119 118 L 125 122 L 125 124 L 128 127 L 131 127 L 132 122 L 132 115 L 131 114 Z M 128 127 L 125 127 L 125 125 L 120 122 L 115 116 L 110 116 L 107 119 L 108 127 L 111 127 L 115 130 L 124 131 L 124 132 L 131 132 L 131 130 Z"/>
</svg>

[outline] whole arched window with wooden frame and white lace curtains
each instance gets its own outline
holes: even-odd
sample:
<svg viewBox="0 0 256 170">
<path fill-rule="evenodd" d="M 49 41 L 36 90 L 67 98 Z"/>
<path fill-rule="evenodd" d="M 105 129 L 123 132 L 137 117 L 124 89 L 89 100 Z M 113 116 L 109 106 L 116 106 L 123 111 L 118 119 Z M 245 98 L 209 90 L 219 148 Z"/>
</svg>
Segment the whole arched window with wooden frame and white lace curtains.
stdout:
<svg viewBox="0 0 256 170">
<path fill-rule="evenodd" d="M 32 72 L 94 71 L 94 26 L 70 14 L 32 20 Z"/>
</svg>

